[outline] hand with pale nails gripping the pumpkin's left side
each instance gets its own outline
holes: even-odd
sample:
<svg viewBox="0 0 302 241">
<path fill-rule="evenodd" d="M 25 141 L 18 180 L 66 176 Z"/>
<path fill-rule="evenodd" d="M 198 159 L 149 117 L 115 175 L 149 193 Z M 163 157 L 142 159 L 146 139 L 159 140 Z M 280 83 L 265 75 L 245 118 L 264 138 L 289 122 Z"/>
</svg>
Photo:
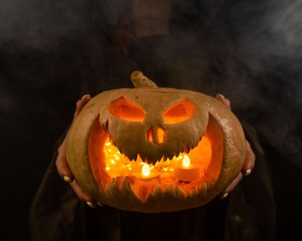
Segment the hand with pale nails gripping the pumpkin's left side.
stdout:
<svg viewBox="0 0 302 241">
<path fill-rule="evenodd" d="M 91 97 L 89 94 L 86 94 L 81 98 L 81 100 L 77 101 L 77 109 L 74 112 L 74 118 L 77 118 L 79 113 L 81 112 L 81 109 L 90 101 Z M 72 175 L 72 172 L 70 171 L 67 158 L 66 158 L 66 142 L 67 142 L 67 136 L 65 136 L 63 143 L 58 148 L 58 156 L 56 160 L 56 166 L 57 170 L 59 172 L 59 175 L 63 180 L 70 183 L 70 186 L 72 189 L 74 189 L 74 192 L 79 196 L 79 198 L 86 202 L 89 207 L 96 207 L 97 201 L 92 198 L 88 193 L 83 191 L 81 187 L 79 186 L 79 183 L 77 180 L 74 179 L 74 176 Z"/>
</svg>

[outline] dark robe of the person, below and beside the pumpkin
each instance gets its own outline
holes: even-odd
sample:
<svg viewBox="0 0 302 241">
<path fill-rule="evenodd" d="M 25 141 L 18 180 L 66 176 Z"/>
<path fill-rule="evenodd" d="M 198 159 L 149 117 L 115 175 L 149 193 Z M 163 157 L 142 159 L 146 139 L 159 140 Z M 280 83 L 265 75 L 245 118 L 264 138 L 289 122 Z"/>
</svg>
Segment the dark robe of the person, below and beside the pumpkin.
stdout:
<svg viewBox="0 0 302 241">
<path fill-rule="evenodd" d="M 252 174 L 228 198 L 196 209 L 137 213 L 81 202 L 55 167 L 57 147 L 30 211 L 32 240 L 274 240 L 275 205 L 265 157 L 252 127 Z"/>
</svg>

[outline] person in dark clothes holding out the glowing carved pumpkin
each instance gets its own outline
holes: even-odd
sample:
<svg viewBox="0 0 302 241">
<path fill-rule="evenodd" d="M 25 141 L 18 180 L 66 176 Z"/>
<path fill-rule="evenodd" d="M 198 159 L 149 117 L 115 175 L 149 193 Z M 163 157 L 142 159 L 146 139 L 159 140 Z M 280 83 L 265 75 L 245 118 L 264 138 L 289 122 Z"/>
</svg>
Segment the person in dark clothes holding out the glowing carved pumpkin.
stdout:
<svg viewBox="0 0 302 241">
<path fill-rule="evenodd" d="M 125 72 L 134 70 L 135 61 L 145 70 L 154 72 L 154 76 L 169 73 L 167 83 L 170 81 L 180 88 L 186 87 L 187 83 L 184 82 L 191 82 L 192 86 L 198 87 L 204 84 L 203 87 L 205 87 L 206 83 L 205 81 L 202 83 L 202 80 L 212 78 L 211 74 L 206 76 L 210 65 L 208 66 L 208 63 L 204 61 L 205 53 L 211 49 L 212 42 L 199 43 L 201 38 L 188 34 L 186 26 L 183 25 L 186 21 L 183 19 L 179 21 L 180 30 L 175 28 L 174 33 L 171 34 L 169 21 L 170 14 L 173 14 L 170 1 L 160 1 L 160 6 L 153 6 L 156 2 L 148 1 L 152 8 L 145 8 L 148 14 L 143 14 L 141 5 L 146 3 L 140 0 L 133 1 L 134 19 L 128 22 L 134 23 L 135 36 L 131 28 L 125 24 L 127 21 L 123 21 L 124 19 L 117 21 L 114 30 L 111 23 L 108 23 L 113 46 L 110 45 L 111 42 L 106 42 L 105 46 L 102 46 L 103 49 L 97 49 L 108 50 L 108 52 L 94 54 L 95 50 L 92 50 L 92 56 L 97 57 L 95 62 L 92 60 L 91 65 L 101 65 L 99 63 L 99 59 L 102 59 L 99 57 L 102 56 L 101 54 L 104 56 L 108 54 L 109 59 L 109 67 L 105 65 L 107 68 L 101 68 L 100 72 L 104 76 L 101 78 L 103 81 L 99 89 L 120 87 L 121 83 L 117 81 L 123 78 L 114 74 L 121 74 L 124 77 Z M 127 11 L 128 5 L 125 7 L 125 12 Z M 121 15 L 128 16 L 128 12 L 127 14 L 125 12 Z M 145 19 L 151 15 L 159 21 Z M 179 41 L 178 34 L 181 31 L 183 31 L 181 33 L 183 39 L 190 39 L 190 48 L 186 43 Z M 169 38 L 169 34 L 172 37 Z M 89 42 L 87 48 L 99 44 L 99 36 L 96 39 L 95 43 Z M 157 45 L 159 47 L 157 51 L 154 50 L 154 43 L 161 43 Z M 179 46 L 183 47 L 183 56 L 185 56 L 173 64 L 170 64 L 170 59 L 174 59 L 174 55 L 171 55 L 169 51 L 164 52 L 165 49 L 170 50 L 166 47 L 170 47 L 171 44 L 176 45 L 177 50 Z M 148 61 L 144 56 L 148 56 Z M 212 52 L 207 57 L 212 58 Z M 157 65 L 158 59 L 166 65 L 163 67 Z M 117 67 L 117 71 L 111 69 L 114 67 Z M 177 68 L 181 71 L 175 71 Z M 88 70 L 87 72 L 90 72 L 90 66 Z M 179 76 L 179 74 L 183 75 Z M 98 81 L 99 79 L 98 77 Z M 227 98 L 221 94 L 218 94 L 216 98 L 230 109 L 230 101 Z M 90 95 L 85 95 L 77 101 L 74 120 L 90 99 Z M 67 138 L 64 134 L 58 140 L 54 157 L 32 205 L 30 220 L 33 240 L 272 240 L 274 238 L 274 201 L 268 187 L 270 180 L 265 166 L 265 157 L 254 129 L 247 123 L 241 124 L 247 138 L 246 160 L 239 175 L 220 193 L 219 196 L 223 200 L 214 198 L 203 207 L 168 213 L 122 211 L 97 203 L 89 193 L 81 189 L 70 171 L 66 160 Z M 257 165 L 254 168 L 255 158 Z M 250 175 L 251 172 L 252 175 Z M 243 178 L 248 175 L 250 176 Z M 66 185 L 66 182 L 69 185 Z M 232 194 L 228 196 L 230 192 Z"/>
</svg>

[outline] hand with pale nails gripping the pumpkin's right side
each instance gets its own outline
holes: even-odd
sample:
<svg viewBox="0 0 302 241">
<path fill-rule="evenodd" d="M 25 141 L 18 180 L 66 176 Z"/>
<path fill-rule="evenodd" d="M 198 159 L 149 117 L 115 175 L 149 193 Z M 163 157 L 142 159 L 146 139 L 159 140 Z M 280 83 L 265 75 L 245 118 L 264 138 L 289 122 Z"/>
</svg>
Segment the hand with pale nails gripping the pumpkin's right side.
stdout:
<svg viewBox="0 0 302 241">
<path fill-rule="evenodd" d="M 217 94 L 216 98 L 218 101 L 223 103 L 226 107 L 231 109 L 231 103 L 230 100 L 228 100 L 228 98 L 225 98 L 222 94 Z M 248 142 L 248 140 L 246 140 L 246 158 L 245 158 L 245 163 L 243 164 L 243 167 L 241 169 L 241 172 L 231 182 L 231 184 L 221 192 L 219 197 L 221 199 L 226 198 L 228 196 L 228 193 L 230 193 L 230 191 L 233 191 L 236 185 L 238 185 L 238 183 L 242 180 L 243 176 L 248 176 L 251 174 L 254 165 L 255 165 L 255 154 L 254 151 L 252 151 L 252 148 L 250 147 L 250 143 Z"/>
</svg>

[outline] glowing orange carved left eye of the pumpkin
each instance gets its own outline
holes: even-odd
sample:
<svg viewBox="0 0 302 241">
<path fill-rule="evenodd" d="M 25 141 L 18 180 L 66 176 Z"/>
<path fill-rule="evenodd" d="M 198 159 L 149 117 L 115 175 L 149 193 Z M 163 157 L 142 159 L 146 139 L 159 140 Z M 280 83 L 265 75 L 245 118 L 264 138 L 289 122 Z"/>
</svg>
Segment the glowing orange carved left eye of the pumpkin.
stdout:
<svg viewBox="0 0 302 241">
<path fill-rule="evenodd" d="M 143 122 L 145 118 L 143 109 L 123 96 L 112 101 L 108 106 L 108 110 L 113 116 L 125 121 Z"/>
</svg>

